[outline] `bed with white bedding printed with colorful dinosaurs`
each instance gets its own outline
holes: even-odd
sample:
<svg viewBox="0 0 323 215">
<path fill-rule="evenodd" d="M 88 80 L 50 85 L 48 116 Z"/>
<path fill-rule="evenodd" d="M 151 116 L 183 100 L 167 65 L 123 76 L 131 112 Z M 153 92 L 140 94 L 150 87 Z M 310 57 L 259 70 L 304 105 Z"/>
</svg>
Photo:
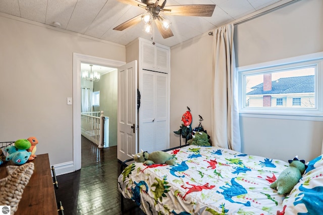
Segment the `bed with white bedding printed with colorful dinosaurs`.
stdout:
<svg viewBox="0 0 323 215">
<path fill-rule="evenodd" d="M 146 214 L 318 214 L 323 209 L 322 156 L 308 163 L 284 196 L 270 184 L 287 162 L 194 145 L 168 153 L 176 155 L 176 165 L 135 162 L 118 178 L 123 197 Z"/>
</svg>

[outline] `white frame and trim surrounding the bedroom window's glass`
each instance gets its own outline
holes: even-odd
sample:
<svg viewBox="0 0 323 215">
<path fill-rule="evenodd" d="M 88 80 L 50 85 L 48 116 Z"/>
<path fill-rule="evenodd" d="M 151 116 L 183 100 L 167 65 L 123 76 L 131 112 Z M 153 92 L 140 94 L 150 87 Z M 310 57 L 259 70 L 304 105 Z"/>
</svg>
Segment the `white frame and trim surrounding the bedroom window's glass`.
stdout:
<svg viewBox="0 0 323 215">
<path fill-rule="evenodd" d="M 304 63 L 310 62 L 311 64 L 317 63 L 316 78 L 316 108 L 313 110 L 303 111 L 301 109 L 293 110 L 286 108 L 243 108 L 244 104 L 244 91 L 240 90 L 243 86 L 243 75 L 255 73 L 256 71 L 282 69 L 284 67 L 290 67 L 294 65 L 304 65 Z M 236 68 L 238 74 L 238 89 L 239 89 L 239 113 L 242 117 L 256 117 L 256 118 L 276 118 L 276 119 L 292 119 L 292 120 L 309 120 L 309 121 L 323 121 L 323 52 L 317 52 L 313 54 L 306 54 L 297 57 L 290 57 L 286 59 L 274 60 L 270 62 L 257 63 L 253 65 L 240 66 Z M 242 86 L 242 87 L 241 87 Z"/>
</svg>

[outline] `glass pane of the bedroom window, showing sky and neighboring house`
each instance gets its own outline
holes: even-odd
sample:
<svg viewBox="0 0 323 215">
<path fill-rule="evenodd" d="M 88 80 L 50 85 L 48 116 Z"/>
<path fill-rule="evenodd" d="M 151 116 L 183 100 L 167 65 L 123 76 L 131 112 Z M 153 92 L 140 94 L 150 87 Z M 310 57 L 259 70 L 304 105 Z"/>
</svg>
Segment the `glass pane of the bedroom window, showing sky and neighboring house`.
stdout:
<svg viewBox="0 0 323 215">
<path fill-rule="evenodd" d="M 244 75 L 246 108 L 315 108 L 316 66 Z"/>
</svg>

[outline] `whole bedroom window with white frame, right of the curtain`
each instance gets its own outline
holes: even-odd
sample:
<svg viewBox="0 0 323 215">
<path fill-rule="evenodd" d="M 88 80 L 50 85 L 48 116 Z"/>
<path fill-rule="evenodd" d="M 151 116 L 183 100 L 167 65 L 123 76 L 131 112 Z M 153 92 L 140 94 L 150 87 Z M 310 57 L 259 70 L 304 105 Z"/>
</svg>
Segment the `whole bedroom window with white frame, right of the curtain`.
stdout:
<svg viewBox="0 0 323 215">
<path fill-rule="evenodd" d="M 241 114 L 323 117 L 323 52 L 238 67 Z"/>
</svg>

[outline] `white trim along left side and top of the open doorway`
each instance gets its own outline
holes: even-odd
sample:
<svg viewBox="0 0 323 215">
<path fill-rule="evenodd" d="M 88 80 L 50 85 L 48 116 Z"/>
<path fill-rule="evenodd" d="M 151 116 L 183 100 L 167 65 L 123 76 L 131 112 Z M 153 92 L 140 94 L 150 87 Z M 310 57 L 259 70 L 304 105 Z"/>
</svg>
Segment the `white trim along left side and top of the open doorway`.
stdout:
<svg viewBox="0 0 323 215">
<path fill-rule="evenodd" d="M 73 164 L 81 169 L 81 63 L 92 63 L 118 68 L 124 61 L 73 53 Z"/>
</svg>

